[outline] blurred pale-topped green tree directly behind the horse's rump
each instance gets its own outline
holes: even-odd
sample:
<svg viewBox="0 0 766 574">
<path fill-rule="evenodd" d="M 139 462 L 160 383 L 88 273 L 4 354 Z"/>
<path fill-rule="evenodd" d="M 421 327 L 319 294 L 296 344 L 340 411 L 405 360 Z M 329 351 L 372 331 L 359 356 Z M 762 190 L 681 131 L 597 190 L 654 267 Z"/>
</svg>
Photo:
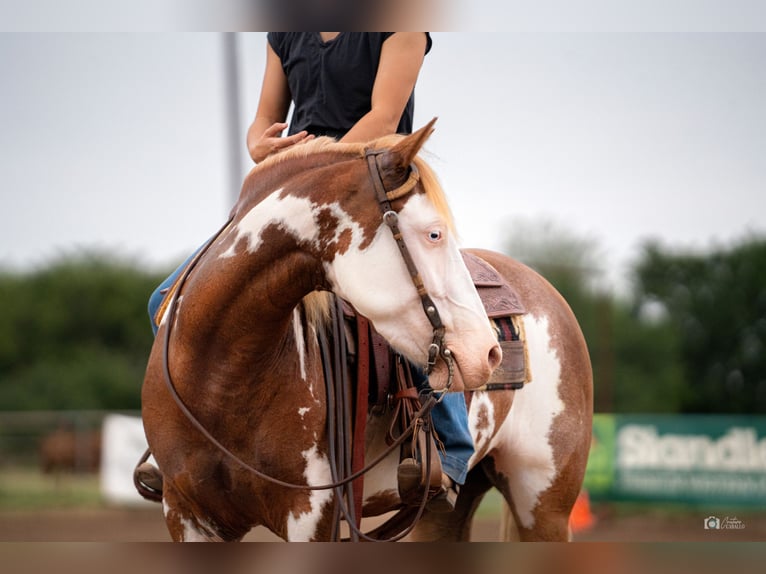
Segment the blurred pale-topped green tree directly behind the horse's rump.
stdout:
<svg viewBox="0 0 766 574">
<path fill-rule="evenodd" d="M 506 253 L 548 279 L 580 323 L 593 366 L 596 411 L 677 411 L 683 370 L 675 331 L 599 286 L 604 257 L 598 242 L 550 221 L 519 220 L 510 228 Z"/>
</svg>

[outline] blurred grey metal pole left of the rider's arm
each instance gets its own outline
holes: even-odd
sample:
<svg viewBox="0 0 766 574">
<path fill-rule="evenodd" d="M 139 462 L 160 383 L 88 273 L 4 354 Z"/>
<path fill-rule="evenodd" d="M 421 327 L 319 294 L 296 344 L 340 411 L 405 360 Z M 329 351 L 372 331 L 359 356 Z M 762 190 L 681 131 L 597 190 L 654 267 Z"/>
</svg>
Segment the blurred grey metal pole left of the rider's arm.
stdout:
<svg viewBox="0 0 766 574">
<path fill-rule="evenodd" d="M 242 186 L 242 133 L 240 131 L 239 53 L 237 34 L 223 33 L 223 70 L 226 94 L 226 134 L 229 141 L 229 197 L 234 205 Z"/>
</svg>

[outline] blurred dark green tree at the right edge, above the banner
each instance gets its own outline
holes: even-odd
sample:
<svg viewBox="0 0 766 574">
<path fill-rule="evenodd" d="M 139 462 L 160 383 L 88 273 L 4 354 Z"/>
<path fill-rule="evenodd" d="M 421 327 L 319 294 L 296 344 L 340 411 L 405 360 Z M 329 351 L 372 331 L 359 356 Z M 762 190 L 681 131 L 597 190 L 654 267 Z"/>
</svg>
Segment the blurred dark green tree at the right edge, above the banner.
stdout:
<svg viewBox="0 0 766 574">
<path fill-rule="evenodd" d="M 661 304 L 677 332 L 685 412 L 766 412 L 766 239 L 706 254 L 647 243 L 636 306 Z"/>
</svg>

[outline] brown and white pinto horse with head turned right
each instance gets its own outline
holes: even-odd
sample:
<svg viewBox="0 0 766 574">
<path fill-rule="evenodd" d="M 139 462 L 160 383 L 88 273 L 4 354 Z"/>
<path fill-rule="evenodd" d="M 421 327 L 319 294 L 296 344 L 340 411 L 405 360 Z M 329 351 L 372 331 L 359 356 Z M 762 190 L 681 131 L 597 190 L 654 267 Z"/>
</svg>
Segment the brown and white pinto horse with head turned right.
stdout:
<svg viewBox="0 0 766 574">
<path fill-rule="evenodd" d="M 492 487 L 507 501 L 515 537 L 569 538 L 590 446 L 585 342 L 542 277 L 503 255 L 474 251 L 523 300 L 533 378 L 520 391 L 477 390 L 501 350 L 444 194 L 417 155 L 432 129 L 433 121 L 367 145 L 318 138 L 262 162 L 246 178 L 230 222 L 184 276 L 142 391 L 174 540 L 240 540 L 257 525 L 288 541 L 330 539 L 336 494 L 314 488 L 332 479 L 317 291 L 348 301 L 415 365 L 432 363 L 436 391 L 471 392 L 475 454 L 456 508 L 426 510 L 410 539 L 468 540 L 473 513 Z M 380 188 L 395 228 L 384 223 Z M 437 309 L 440 337 L 424 307 Z M 369 416 L 367 460 L 384 452 L 389 416 Z M 391 452 L 366 475 L 364 516 L 402 506 L 398 462 Z"/>
</svg>

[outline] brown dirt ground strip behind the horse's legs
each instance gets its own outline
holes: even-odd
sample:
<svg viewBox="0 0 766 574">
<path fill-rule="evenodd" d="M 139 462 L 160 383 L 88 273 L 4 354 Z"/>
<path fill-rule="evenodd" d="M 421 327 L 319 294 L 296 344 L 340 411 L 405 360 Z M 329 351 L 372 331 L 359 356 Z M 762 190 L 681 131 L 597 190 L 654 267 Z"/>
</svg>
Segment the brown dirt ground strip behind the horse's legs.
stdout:
<svg viewBox="0 0 766 574">
<path fill-rule="evenodd" d="M 766 541 L 766 515 L 746 514 L 738 519 L 744 528 L 710 530 L 703 520 L 710 513 L 679 513 L 662 510 L 628 516 L 606 509 L 595 511 L 596 522 L 578 532 L 575 541 L 605 542 L 753 542 Z M 723 522 L 735 513 L 718 512 Z M 474 523 L 473 540 L 497 541 L 499 519 Z M 154 542 L 168 541 L 159 506 L 0 513 L 0 541 L 26 542 Z M 246 541 L 278 539 L 264 528 L 253 530 Z"/>
</svg>

